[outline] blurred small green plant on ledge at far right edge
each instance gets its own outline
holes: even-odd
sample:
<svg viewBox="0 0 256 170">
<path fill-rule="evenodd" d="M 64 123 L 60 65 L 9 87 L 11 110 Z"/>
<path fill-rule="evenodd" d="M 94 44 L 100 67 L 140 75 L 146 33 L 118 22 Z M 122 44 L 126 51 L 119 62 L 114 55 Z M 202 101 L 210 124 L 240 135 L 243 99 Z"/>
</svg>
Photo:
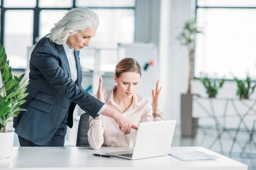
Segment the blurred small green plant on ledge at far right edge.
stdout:
<svg viewBox="0 0 256 170">
<path fill-rule="evenodd" d="M 252 80 L 250 79 L 250 74 L 247 73 L 245 80 L 240 80 L 235 76 L 234 80 L 237 83 L 236 95 L 239 96 L 240 99 L 249 99 L 256 87 L 256 85 L 251 86 Z"/>
</svg>

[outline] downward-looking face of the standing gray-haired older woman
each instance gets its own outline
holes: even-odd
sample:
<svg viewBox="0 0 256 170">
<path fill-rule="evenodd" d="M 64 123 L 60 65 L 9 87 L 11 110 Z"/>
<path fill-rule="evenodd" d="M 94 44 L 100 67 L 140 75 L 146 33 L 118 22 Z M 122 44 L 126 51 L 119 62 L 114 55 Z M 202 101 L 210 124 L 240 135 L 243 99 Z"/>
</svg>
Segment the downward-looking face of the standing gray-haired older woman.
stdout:
<svg viewBox="0 0 256 170">
<path fill-rule="evenodd" d="M 97 29 L 88 28 L 75 35 L 71 35 L 67 39 L 67 45 L 76 51 L 83 49 L 85 46 L 89 46 L 90 40 L 95 36 Z"/>
</svg>

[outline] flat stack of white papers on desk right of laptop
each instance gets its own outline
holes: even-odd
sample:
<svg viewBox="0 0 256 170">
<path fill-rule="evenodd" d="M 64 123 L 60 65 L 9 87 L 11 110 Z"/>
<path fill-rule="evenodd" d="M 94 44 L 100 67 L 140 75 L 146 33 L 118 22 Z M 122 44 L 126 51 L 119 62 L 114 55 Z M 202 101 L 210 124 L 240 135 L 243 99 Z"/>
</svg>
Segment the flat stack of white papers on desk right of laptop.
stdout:
<svg viewBox="0 0 256 170">
<path fill-rule="evenodd" d="M 169 153 L 169 155 L 174 156 L 175 158 L 182 161 L 216 161 L 219 158 L 219 156 L 209 155 L 197 150 L 172 151 Z"/>
</svg>

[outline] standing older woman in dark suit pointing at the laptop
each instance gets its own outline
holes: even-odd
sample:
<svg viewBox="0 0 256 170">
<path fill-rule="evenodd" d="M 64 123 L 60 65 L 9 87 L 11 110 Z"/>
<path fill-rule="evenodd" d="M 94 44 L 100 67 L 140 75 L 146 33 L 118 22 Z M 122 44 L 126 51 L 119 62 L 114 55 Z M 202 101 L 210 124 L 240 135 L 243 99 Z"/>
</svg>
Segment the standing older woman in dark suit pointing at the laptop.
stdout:
<svg viewBox="0 0 256 170">
<path fill-rule="evenodd" d="M 79 50 L 89 46 L 99 27 L 89 8 L 74 8 L 35 45 L 29 62 L 26 102 L 15 117 L 20 146 L 64 146 L 67 126 L 73 126 L 76 104 L 93 118 L 112 117 L 124 133 L 137 126 L 81 87 Z"/>
</svg>

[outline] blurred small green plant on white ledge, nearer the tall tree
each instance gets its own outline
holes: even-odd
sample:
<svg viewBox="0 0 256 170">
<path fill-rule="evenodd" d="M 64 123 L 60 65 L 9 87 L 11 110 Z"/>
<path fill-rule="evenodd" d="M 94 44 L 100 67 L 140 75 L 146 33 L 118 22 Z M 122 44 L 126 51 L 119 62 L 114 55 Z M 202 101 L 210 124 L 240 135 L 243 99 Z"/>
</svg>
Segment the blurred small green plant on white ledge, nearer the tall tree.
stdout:
<svg viewBox="0 0 256 170">
<path fill-rule="evenodd" d="M 222 88 L 225 82 L 225 79 L 209 79 L 207 74 L 205 74 L 203 78 L 195 77 L 195 79 L 203 83 L 209 98 L 215 98 L 218 94 L 218 90 Z"/>
</svg>

